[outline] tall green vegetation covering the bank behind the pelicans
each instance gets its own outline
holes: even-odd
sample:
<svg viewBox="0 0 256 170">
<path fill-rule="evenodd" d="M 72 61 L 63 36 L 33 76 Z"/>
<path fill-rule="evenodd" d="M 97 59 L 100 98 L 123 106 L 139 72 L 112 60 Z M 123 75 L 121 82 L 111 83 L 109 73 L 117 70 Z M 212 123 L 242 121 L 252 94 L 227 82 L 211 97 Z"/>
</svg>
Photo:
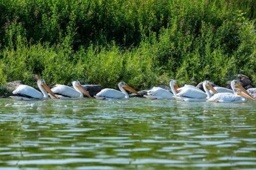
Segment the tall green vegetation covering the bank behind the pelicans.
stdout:
<svg viewBox="0 0 256 170">
<path fill-rule="evenodd" d="M 253 0 L 0 0 L 0 85 L 256 85 Z"/>
</svg>

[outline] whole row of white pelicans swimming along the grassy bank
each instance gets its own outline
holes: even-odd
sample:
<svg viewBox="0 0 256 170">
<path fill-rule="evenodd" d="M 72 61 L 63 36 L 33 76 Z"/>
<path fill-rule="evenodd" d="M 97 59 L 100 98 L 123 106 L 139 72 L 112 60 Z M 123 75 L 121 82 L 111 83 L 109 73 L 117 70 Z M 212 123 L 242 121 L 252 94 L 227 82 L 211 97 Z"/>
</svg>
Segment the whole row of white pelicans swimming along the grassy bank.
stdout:
<svg viewBox="0 0 256 170">
<path fill-rule="evenodd" d="M 245 102 L 246 100 L 254 100 L 253 97 L 246 91 L 243 86 L 236 80 L 231 82 L 231 88 L 212 87 L 212 83 L 205 80 L 203 82 L 203 90 L 192 86 L 184 85 L 179 87 L 175 80 L 170 81 L 169 86 L 172 92 L 161 87 L 153 87 L 148 90 L 146 95 L 147 99 L 157 100 L 178 100 L 184 102 Z M 85 90 L 79 81 L 72 82 L 73 88 L 56 84 L 52 89 L 46 84 L 44 80 L 38 80 L 37 86 L 41 92 L 28 85 L 19 85 L 12 93 L 10 98 L 20 101 L 31 100 L 48 100 L 49 95 L 51 99 L 82 99 L 83 95 L 92 98 L 89 91 Z M 94 97 L 98 100 L 129 100 L 130 95 L 127 91 L 133 92 L 137 95 L 141 94 L 127 85 L 124 82 L 118 84 L 120 91 L 111 88 L 102 89 Z M 127 90 L 127 91 L 126 91 Z"/>
</svg>

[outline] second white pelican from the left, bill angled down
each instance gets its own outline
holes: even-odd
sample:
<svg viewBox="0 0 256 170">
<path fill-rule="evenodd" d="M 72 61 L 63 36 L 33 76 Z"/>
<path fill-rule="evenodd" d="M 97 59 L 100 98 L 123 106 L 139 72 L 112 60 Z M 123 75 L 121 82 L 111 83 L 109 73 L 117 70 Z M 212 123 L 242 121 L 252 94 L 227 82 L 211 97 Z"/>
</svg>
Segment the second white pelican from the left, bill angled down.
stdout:
<svg viewBox="0 0 256 170">
<path fill-rule="evenodd" d="M 82 99 L 83 94 L 87 95 L 89 98 L 92 98 L 89 92 L 84 90 L 78 81 L 73 81 L 72 85 L 74 88 L 66 85 L 56 84 L 51 90 L 58 99 Z"/>
</svg>

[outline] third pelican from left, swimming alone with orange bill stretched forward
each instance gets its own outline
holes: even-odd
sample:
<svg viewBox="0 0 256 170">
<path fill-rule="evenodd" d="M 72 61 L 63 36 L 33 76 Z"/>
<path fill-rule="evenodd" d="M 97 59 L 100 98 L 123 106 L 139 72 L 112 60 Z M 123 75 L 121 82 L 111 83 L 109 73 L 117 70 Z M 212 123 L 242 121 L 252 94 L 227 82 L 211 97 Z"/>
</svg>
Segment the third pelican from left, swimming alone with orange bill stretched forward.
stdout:
<svg viewBox="0 0 256 170">
<path fill-rule="evenodd" d="M 98 92 L 94 97 L 99 100 L 113 100 L 113 99 L 118 99 L 118 100 L 129 100 L 130 96 L 125 90 L 129 90 L 133 93 L 136 93 L 138 95 L 141 95 L 138 93 L 136 90 L 134 90 L 132 87 L 128 86 L 124 82 L 118 83 L 118 87 L 121 91 L 112 89 L 112 88 L 104 88 L 100 92 Z"/>
</svg>

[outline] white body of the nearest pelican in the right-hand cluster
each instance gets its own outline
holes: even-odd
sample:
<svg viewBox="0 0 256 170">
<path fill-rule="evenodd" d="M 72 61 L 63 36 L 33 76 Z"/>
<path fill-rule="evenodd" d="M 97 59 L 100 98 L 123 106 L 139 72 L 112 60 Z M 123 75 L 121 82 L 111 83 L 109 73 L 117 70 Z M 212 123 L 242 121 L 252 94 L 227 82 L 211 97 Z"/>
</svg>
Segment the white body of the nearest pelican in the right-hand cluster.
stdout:
<svg viewBox="0 0 256 170">
<path fill-rule="evenodd" d="M 209 102 L 243 102 L 245 101 L 245 99 L 239 95 L 235 95 L 231 93 L 217 93 L 211 96 L 211 98 L 208 99 L 208 101 Z"/>
</svg>

